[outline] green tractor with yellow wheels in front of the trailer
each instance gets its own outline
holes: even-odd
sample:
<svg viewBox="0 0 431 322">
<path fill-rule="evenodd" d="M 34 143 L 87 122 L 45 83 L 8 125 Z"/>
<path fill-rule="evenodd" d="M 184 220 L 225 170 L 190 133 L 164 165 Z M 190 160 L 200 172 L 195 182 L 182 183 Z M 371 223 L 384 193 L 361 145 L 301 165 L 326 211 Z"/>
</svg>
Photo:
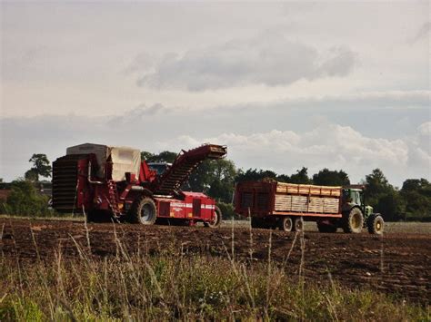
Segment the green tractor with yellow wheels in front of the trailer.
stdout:
<svg viewBox="0 0 431 322">
<path fill-rule="evenodd" d="M 374 213 L 373 207 L 366 205 L 364 186 L 349 186 L 343 189 L 343 218 L 339 226 L 345 232 L 361 232 L 368 229 L 370 234 L 383 234 L 384 220 L 381 214 Z"/>
</svg>

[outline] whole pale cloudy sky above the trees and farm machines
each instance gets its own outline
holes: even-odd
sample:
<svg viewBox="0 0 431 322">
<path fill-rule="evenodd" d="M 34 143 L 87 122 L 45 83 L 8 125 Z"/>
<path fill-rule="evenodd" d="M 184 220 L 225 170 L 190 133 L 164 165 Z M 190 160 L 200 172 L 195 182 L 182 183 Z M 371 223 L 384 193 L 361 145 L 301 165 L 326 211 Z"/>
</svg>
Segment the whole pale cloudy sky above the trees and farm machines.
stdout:
<svg viewBox="0 0 431 322">
<path fill-rule="evenodd" d="M 0 178 L 84 142 L 431 180 L 430 7 L 1 2 Z"/>
</svg>

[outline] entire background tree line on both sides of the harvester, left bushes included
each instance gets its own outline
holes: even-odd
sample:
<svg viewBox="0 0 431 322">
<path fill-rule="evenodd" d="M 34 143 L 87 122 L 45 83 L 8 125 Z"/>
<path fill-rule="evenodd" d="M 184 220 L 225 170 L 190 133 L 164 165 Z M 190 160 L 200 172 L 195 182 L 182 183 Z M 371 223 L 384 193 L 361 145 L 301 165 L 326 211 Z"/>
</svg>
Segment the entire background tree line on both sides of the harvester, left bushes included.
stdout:
<svg viewBox="0 0 431 322">
<path fill-rule="evenodd" d="M 147 162 L 175 161 L 177 154 L 171 151 L 160 153 L 141 152 L 142 160 Z M 45 154 L 34 154 L 29 160 L 30 170 L 25 172 L 25 180 L 12 182 L 12 193 L 7 202 L 2 205 L 2 211 L 43 214 L 45 213 L 45 196 L 35 193 L 35 185 L 39 177 L 51 176 L 51 165 Z M 259 181 L 271 179 L 281 182 L 297 184 L 316 184 L 322 186 L 347 186 L 351 184 L 348 174 L 343 170 L 329 170 L 327 168 L 313 175 L 302 167 L 290 175 L 278 174 L 275 171 L 262 169 L 238 169 L 233 161 L 220 159 L 203 161 L 191 174 L 182 187 L 183 190 L 204 192 L 214 198 L 227 218 L 234 216 L 232 205 L 235 185 L 241 181 Z M 366 204 L 374 207 L 375 212 L 384 215 L 385 220 L 429 220 L 431 221 L 431 183 L 424 178 L 406 179 L 399 189 L 387 181 L 380 169 L 367 174 L 360 184 L 366 185 Z M 35 204 L 35 207 L 32 205 Z M 44 208 L 45 207 L 45 208 Z M 18 212 L 16 212 L 18 211 Z"/>
</svg>

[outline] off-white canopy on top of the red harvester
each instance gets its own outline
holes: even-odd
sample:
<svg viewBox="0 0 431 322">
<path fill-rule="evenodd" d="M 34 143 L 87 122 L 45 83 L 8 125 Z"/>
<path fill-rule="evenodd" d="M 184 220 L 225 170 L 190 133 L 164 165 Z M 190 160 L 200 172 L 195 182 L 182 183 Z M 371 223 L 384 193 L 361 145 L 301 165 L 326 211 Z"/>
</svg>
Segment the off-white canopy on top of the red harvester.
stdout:
<svg viewBox="0 0 431 322">
<path fill-rule="evenodd" d="M 125 172 L 135 173 L 139 176 L 141 164 L 141 151 L 123 147 L 107 146 L 102 144 L 84 143 L 67 148 L 66 154 L 95 154 L 99 165 L 97 176 L 105 178 L 105 164 L 109 158 L 112 161 L 112 179 L 124 181 Z"/>
</svg>

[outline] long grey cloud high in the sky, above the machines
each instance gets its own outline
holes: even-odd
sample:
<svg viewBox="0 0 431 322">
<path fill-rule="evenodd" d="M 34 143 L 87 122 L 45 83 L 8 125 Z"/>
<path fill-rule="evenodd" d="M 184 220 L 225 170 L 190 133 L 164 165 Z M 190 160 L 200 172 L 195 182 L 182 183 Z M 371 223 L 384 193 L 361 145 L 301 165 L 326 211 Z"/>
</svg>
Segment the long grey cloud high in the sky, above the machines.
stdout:
<svg viewBox="0 0 431 322">
<path fill-rule="evenodd" d="M 146 57 L 146 55 L 144 55 Z M 138 67 L 134 61 L 134 70 Z M 148 60 L 145 59 L 145 66 Z M 356 54 L 346 47 L 319 53 L 315 47 L 272 33 L 165 54 L 154 71 L 143 73 L 139 86 L 205 91 L 247 84 L 288 85 L 300 79 L 346 76 Z"/>
</svg>

